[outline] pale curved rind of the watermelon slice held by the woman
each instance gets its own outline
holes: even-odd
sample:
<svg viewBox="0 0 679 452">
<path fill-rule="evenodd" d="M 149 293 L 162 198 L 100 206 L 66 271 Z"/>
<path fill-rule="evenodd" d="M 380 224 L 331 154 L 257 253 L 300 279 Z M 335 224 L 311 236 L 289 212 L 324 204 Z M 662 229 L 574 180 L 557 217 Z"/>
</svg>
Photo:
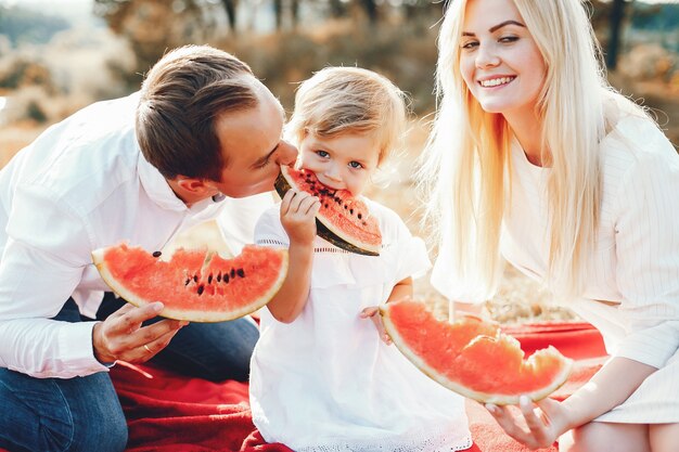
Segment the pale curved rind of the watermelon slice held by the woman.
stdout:
<svg viewBox="0 0 679 452">
<path fill-rule="evenodd" d="M 496 393 L 475 391 L 473 389 L 467 388 L 466 386 L 464 386 L 463 384 L 459 382 L 453 382 L 450 378 L 447 378 L 446 376 L 441 375 L 436 370 L 434 370 L 432 366 L 430 366 L 427 363 L 425 363 L 424 360 L 420 356 L 418 356 L 410 347 L 408 347 L 408 345 L 406 344 L 406 340 L 398 333 L 398 327 L 392 321 L 389 313 L 390 312 L 389 312 L 388 304 L 380 307 L 380 315 L 382 317 L 382 323 L 384 324 L 384 328 L 386 333 L 392 338 L 392 341 L 394 343 L 396 348 L 398 348 L 398 350 L 415 367 L 418 367 L 422 373 L 424 373 L 430 378 L 434 379 L 439 385 L 461 396 L 464 396 L 469 399 L 476 400 L 477 402 L 481 402 L 481 403 L 494 403 L 496 405 L 515 405 L 515 404 L 518 404 L 518 399 L 522 396 L 526 396 L 531 401 L 537 402 L 539 400 L 545 399 L 550 393 L 554 392 L 556 389 L 563 386 L 568 379 L 568 376 L 571 375 L 571 372 L 573 369 L 573 360 L 564 357 L 564 366 L 562 371 L 559 373 L 559 375 L 552 380 L 552 383 L 533 392 L 522 392 L 517 395 L 496 395 Z M 559 351 L 552 346 L 549 346 L 543 350 L 548 352 L 559 353 Z"/>
</svg>

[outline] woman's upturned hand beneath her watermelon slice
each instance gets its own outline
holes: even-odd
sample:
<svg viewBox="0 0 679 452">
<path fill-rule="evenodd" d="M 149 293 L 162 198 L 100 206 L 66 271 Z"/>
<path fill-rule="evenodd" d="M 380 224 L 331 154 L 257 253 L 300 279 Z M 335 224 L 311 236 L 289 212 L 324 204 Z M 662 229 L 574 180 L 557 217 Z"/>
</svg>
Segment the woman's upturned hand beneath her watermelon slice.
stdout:
<svg viewBox="0 0 679 452">
<path fill-rule="evenodd" d="M 567 411 L 560 402 L 549 398 L 536 404 L 538 408 L 524 396 L 518 403 L 521 415 L 514 415 L 510 406 L 487 403 L 486 409 L 507 435 L 516 441 L 531 450 L 549 448 L 569 429 Z"/>
</svg>

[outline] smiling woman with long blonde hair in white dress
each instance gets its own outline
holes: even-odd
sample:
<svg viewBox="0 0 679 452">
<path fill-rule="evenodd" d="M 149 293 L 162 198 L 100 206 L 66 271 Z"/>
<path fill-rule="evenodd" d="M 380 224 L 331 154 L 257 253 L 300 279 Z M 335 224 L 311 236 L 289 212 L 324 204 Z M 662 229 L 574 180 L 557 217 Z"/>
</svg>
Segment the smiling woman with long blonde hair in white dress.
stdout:
<svg viewBox="0 0 679 452">
<path fill-rule="evenodd" d="M 487 405 L 535 449 L 679 444 L 679 156 L 605 82 L 579 0 L 456 0 L 439 35 L 439 109 L 423 166 L 460 307 L 502 258 L 602 333 L 611 359 L 564 402 Z"/>
</svg>

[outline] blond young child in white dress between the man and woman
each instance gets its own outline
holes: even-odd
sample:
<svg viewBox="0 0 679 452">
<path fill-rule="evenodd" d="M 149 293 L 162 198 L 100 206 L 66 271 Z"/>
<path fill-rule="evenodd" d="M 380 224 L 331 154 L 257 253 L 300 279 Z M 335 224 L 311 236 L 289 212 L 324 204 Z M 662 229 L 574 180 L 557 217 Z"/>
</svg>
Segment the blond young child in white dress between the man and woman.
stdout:
<svg viewBox="0 0 679 452">
<path fill-rule="evenodd" d="M 302 83 L 289 131 L 298 163 L 331 190 L 359 196 L 403 132 L 401 91 L 370 70 L 325 68 Z M 362 310 L 412 295 L 431 267 L 424 244 L 388 208 L 379 257 L 316 235 L 319 199 L 290 191 L 255 229 L 289 246 L 290 271 L 261 314 L 252 359 L 253 419 L 269 442 L 303 451 L 459 451 L 472 445 L 463 399 L 381 339 Z"/>
</svg>

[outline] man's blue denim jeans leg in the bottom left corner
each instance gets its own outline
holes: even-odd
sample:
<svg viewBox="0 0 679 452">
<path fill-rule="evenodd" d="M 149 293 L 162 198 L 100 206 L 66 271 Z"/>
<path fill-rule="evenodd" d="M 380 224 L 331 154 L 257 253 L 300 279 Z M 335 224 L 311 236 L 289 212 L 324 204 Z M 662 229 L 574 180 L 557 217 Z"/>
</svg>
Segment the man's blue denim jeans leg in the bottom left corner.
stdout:
<svg viewBox="0 0 679 452">
<path fill-rule="evenodd" d="M 68 300 L 54 318 L 79 322 Z M 11 452 L 123 451 L 127 425 L 106 373 L 33 378 L 0 369 L 0 447 Z"/>
</svg>

